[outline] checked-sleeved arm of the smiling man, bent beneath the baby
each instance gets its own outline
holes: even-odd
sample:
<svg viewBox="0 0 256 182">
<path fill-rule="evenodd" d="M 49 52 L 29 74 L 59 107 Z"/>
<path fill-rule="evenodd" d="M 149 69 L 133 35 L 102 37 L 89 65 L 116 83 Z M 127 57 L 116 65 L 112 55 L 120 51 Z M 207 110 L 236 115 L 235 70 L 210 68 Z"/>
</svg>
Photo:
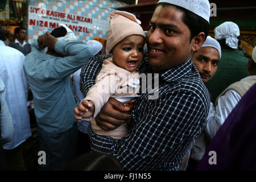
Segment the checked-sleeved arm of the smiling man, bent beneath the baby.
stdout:
<svg viewBox="0 0 256 182">
<path fill-rule="evenodd" d="M 139 121 L 131 119 L 133 129 L 119 140 L 97 135 L 89 127 L 92 150 L 113 155 L 126 170 L 153 170 L 166 163 L 180 163 L 188 144 L 203 129 L 204 103 L 192 94 L 177 92 L 150 102 L 147 109 L 147 113 L 139 113 Z"/>
</svg>

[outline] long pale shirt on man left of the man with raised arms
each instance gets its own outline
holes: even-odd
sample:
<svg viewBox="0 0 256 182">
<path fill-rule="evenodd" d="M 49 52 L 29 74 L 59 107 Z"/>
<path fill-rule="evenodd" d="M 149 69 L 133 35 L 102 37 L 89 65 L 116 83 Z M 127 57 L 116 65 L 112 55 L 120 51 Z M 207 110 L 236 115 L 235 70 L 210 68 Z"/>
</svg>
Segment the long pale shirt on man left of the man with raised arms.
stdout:
<svg viewBox="0 0 256 182">
<path fill-rule="evenodd" d="M 22 52 L 5 46 L 0 40 L 0 77 L 6 86 L 6 102 L 14 124 L 13 139 L 3 144 L 13 149 L 31 136 L 30 117 L 27 111 L 28 82 L 23 69 Z"/>
</svg>

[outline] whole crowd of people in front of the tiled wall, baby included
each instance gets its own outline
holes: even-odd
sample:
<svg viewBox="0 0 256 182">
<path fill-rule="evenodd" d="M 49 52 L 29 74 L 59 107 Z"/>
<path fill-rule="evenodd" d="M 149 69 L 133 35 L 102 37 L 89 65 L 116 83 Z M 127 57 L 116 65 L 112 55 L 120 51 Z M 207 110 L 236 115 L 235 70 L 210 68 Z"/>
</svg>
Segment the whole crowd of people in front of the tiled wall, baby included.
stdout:
<svg viewBox="0 0 256 182">
<path fill-rule="evenodd" d="M 212 38 L 209 19 L 208 0 L 160 0 L 148 31 L 113 11 L 86 43 L 65 24 L 32 44 L 0 28 L 1 169 L 26 170 L 29 94 L 39 170 L 256 169 L 256 47 L 238 50 L 234 22 Z"/>
</svg>

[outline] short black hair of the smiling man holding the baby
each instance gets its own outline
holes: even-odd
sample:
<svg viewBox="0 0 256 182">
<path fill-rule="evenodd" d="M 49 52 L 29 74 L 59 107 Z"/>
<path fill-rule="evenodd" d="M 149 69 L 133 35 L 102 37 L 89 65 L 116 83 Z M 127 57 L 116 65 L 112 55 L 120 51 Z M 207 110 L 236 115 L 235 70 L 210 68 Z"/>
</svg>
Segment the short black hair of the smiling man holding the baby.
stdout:
<svg viewBox="0 0 256 182">
<path fill-rule="evenodd" d="M 183 12 L 182 20 L 188 26 L 188 28 L 190 30 L 190 42 L 200 32 L 204 32 L 205 39 L 207 38 L 208 32 L 209 32 L 209 23 L 207 22 L 207 20 L 205 20 L 201 16 L 193 13 L 192 11 L 184 9 L 183 7 L 172 5 L 172 4 L 166 3 L 166 2 L 158 3 L 156 5 L 156 7 L 158 7 L 158 6 L 163 6 L 163 7 L 174 6 L 177 10 L 180 10 L 181 12 Z"/>
</svg>

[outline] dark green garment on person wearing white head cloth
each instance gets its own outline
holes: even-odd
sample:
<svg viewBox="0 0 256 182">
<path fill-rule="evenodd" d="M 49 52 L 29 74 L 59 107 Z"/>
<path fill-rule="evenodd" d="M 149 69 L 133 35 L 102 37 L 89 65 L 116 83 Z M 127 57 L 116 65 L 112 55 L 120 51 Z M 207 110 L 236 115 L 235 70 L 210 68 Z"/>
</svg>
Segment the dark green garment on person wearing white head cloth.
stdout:
<svg viewBox="0 0 256 182">
<path fill-rule="evenodd" d="M 222 56 L 215 75 L 205 83 L 212 94 L 213 103 L 215 103 L 218 95 L 229 85 L 249 76 L 247 71 L 249 59 L 243 56 L 242 51 L 238 51 L 238 49 L 222 49 L 221 53 Z"/>
</svg>

